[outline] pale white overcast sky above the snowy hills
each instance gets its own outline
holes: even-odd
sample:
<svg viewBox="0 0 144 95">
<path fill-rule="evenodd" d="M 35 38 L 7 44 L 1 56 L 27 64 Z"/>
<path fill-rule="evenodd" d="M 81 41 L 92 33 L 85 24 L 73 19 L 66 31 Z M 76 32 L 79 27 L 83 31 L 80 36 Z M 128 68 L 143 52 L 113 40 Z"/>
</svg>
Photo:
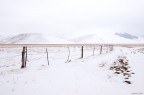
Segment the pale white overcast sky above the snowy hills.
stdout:
<svg viewBox="0 0 144 95">
<path fill-rule="evenodd" d="M 0 35 L 144 35 L 144 0 L 0 0 Z"/>
</svg>

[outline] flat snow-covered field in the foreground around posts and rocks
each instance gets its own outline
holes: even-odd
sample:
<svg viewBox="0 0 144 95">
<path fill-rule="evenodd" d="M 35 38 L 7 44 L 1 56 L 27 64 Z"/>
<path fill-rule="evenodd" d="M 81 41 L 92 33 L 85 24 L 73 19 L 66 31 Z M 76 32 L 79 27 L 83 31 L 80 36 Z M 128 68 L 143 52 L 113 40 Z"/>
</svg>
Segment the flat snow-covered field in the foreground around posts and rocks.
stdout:
<svg viewBox="0 0 144 95">
<path fill-rule="evenodd" d="M 144 95 L 144 47 L 28 47 L 27 67 L 21 69 L 22 48 L 0 48 L 0 95 Z M 131 76 L 110 67 L 119 58 L 128 62 Z M 130 81 L 127 84 L 124 81 Z"/>
</svg>

